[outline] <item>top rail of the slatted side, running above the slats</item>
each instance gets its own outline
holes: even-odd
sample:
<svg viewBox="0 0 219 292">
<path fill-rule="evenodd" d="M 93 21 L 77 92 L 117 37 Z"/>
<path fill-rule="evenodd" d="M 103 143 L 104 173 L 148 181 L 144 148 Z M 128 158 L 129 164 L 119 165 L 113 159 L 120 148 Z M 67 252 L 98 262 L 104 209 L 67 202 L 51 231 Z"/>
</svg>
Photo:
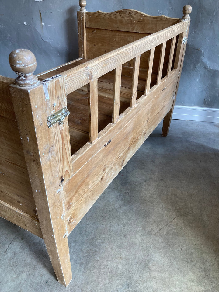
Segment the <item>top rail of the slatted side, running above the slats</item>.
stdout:
<svg viewBox="0 0 219 292">
<path fill-rule="evenodd" d="M 123 63 L 128 62 L 137 55 L 141 55 L 145 51 L 183 32 L 185 27 L 185 23 L 177 23 L 169 29 L 164 29 L 153 35 L 146 36 L 141 40 L 137 40 L 113 52 L 88 61 L 86 64 L 81 64 L 77 68 L 72 68 L 61 73 L 65 77 L 67 95 L 89 83 L 91 80 L 97 79 Z"/>
</svg>

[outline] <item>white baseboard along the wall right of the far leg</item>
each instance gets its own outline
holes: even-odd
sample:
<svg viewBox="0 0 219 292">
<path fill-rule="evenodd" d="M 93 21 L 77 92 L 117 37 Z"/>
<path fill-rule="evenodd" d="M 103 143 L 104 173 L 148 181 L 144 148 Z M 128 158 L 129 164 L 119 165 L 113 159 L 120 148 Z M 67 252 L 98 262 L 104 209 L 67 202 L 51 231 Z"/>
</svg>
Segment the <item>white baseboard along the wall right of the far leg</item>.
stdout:
<svg viewBox="0 0 219 292">
<path fill-rule="evenodd" d="M 219 109 L 175 105 L 172 119 L 219 123 Z"/>
</svg>

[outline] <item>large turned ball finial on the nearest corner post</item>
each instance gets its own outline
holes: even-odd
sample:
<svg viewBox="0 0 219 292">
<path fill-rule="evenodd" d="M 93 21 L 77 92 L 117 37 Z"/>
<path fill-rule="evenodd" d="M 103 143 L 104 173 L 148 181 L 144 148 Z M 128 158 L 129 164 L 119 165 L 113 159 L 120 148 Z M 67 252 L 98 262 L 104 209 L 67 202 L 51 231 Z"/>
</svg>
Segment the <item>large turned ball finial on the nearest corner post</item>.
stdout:
<svg viewBox="0 0 219 292">
<path fill-rule="evenodd" d="M 34 54 L 26 49 L 17 49 L 10 53 L 9 64 L 18 75 L 15 83 L 19 86 L 33 86 L 38 78 L 33 75 L 36 69 L 36 58 Z"/>
</svg>

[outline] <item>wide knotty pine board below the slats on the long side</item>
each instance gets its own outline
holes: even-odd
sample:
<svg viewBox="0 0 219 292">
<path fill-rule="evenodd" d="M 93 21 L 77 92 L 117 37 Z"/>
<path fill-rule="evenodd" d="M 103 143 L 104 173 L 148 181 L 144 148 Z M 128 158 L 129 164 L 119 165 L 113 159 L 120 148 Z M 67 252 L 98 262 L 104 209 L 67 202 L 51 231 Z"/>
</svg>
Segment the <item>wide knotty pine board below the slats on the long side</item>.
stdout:
<svg viewBox="0 0 219 292">
<path fill-rule="evenodd" d="M 118 132 L 112 128 L 107 137 L 111 142 L 106 147 L 100 148 L 96 155 L 73 176 L 72 180 L 63 186 L 68 234 L 169 112 L 176 82 L 172 80 L 167 85 L 165 93 L 158 92 L 158 95 L 153 95 L 144 107 L 139 106 L 137 113 L 134 108 L 131 109 L 129 122 L 125 123 L 124 118 L 123 126 L 120 126 Z M 123 139 L 121 139 L 121 133 Z"/>
</svg>

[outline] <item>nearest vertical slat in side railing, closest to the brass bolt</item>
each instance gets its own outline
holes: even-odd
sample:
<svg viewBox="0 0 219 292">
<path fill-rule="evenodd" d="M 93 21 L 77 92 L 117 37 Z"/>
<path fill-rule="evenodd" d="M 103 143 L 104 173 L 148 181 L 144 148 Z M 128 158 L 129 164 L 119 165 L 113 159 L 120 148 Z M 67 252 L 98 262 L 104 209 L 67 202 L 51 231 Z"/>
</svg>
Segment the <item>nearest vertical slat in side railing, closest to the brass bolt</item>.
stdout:
<svg viewBox="0 0 219 292">
<path fill-rule="evenodd" d="M 88 113 L 89 113 L 89 138 L 93 143 L 98 138 L 98 96 L 97 79 L 88 85 Z"/>
</svg>

